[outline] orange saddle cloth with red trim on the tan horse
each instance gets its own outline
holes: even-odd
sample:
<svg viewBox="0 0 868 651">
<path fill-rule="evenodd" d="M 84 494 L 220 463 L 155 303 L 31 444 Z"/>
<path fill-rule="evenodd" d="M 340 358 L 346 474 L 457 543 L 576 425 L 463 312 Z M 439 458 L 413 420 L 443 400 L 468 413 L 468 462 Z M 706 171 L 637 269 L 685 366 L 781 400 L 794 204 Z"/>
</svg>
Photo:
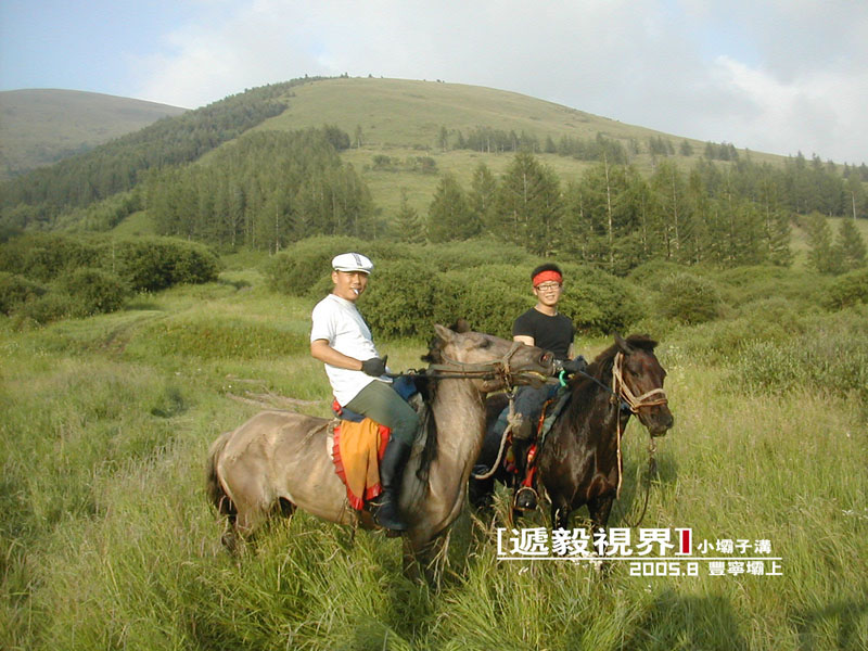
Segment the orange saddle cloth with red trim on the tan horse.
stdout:
<svg viewBox="0 0 868 651">
<path fill-rule="evenodd" d="M 386 451 L 391 430 L 366 418 L 360 423 L 342 420 L 334 427 L 332 455 L 337 475 L 346 484 L 349 506 L 361 511 L 365 501 L 373 499 L 380 485 L 380 459 Z"/>
</svg>

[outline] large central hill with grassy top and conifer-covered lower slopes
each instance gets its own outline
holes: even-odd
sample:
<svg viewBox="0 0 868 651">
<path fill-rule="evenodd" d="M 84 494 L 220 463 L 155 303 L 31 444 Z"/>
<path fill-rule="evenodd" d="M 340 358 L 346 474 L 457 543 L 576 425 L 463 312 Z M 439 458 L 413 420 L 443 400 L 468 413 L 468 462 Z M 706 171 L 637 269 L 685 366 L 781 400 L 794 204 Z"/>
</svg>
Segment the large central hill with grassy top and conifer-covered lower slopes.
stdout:
<svg viewBox="0 0 868 651">
<path fill-rule="evenodd" d="M 792 216 L 865 217 L 866 181 L 865 166 L 703 143 L 513 92 L 305 78 L 7 182 L 0 226 L 272 252 L 315 234 L 489 234 L 626 272 L 655 257 L 786 264 Z"/>
</svg>

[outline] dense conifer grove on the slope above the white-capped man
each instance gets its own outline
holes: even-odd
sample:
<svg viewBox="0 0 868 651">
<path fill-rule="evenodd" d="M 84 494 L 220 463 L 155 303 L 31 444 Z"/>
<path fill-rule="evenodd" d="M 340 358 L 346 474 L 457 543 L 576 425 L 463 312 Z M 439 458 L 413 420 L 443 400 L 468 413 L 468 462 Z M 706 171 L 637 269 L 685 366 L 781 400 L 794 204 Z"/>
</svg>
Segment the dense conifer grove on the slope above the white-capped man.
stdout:
<svg viewBox="0 0 868 651">
<path fill-rule="evenodd" d="M 316 234 L 375 238 L 370 191 L 339 155 L 348 146 L 331 126 L 243 136 L 207 164 L 151 174 L 148 215 L 162 235 L 273 253 Z"/>
</svg>

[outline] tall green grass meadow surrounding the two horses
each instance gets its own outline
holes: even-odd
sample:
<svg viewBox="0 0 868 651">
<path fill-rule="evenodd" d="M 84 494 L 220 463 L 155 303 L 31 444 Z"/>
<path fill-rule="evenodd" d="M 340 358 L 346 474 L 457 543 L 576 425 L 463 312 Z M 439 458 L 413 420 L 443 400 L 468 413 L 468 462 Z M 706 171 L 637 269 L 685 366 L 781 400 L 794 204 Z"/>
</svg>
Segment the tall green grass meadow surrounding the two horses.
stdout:
<svg viewBox="0 0 868 651">
<path fill-rule="evenodd" d="M 865 306 L 805 308 L 812 279 L 732 272 L 720 319 L 652 312 L 631 329 L 661 340 L 676 419 L 641 526 L 768 540 L 779 576 L 498 560 L 500 493 L 495 521 L 458 521 L 433 590 L 403 576 L 399 540 L 304 513 L 239 558 L 221 548 L 210 442 L 266 406 L 328 413 L 306 343 L 314 299 L 268 289 L 260 261 L 230 258 L 215 282 L 110 315 L 0 318 L 0 647 L 868 648 Z M 418 368 L 427 336 L 380 348 Z M 576 344 L 590 356 L 609 341 Z M 611 526 L 637 507 L 646 445 L 631 423 Z"/>
</svg>

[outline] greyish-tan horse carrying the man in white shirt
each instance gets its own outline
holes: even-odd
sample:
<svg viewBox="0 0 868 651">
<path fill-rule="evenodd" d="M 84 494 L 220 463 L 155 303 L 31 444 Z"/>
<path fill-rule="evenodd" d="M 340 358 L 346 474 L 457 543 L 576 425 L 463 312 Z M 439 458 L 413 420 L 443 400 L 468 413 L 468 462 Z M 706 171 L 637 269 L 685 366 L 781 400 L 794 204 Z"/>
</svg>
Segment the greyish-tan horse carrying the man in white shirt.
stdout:
<svg viewBox="0 0 868 651">
<path fill-rule="evenodd" d="M 484 394 L 510 383 L 550 375 L 550 354 L 478 332 L 456 333 L 435 326 L 439 361 L 426 374 L 435 382 L 429 400 L 426 442 L 413 446 L 400 489 L 409 528 L 403 534 L 405 566 L 413 559 L 427 571 L 439 536 L 458 518 L 471 465 L 485 429 Z M 224 542 L 253 534 L 273 512 L 295 507 L 323 520 L 373 528 L 367 511 L 349 508 L 346 489 L 327 451 L 329 419 L 263 411 L 210 447 L 208 493 L 227 516 Z"/>
</svg>

